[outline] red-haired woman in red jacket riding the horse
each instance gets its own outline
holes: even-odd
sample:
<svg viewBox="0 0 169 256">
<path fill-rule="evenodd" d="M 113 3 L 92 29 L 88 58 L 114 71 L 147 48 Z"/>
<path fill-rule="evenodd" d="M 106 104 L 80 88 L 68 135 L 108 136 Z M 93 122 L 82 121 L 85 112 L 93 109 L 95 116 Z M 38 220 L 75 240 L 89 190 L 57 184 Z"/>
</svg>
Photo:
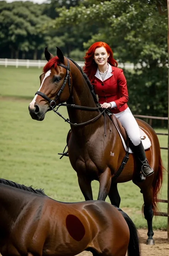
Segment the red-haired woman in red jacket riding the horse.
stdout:
<svg viewBox="0 0 169 256">
<path fill-rule="evenodd" d="M 83 71 L 89 77 L 99 98 L 102 108 L 109 108 L 126 129 L 132 142 L 132 150 L 138 158 L 144 177 L 154 173 L 148 164 L 144 147 L 140 139 L 139 126 L 130 111 L 127 82 L 123 70 L 118 68 L 113 52 L 108 44 L 96 42 L 89 47 L 85 56 Z M 140 180 L 144 181 L 144 179 Z"/>
</svg>

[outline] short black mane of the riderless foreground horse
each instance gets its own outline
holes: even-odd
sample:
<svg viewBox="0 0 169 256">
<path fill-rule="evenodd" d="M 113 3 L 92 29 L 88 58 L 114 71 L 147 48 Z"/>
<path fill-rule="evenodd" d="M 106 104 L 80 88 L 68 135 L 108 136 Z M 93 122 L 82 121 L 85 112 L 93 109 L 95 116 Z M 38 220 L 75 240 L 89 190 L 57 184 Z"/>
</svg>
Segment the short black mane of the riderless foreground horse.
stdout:
<svg viewBox="0 0 169 256">
<path fill-rule="evenodd" d="M 17 189 L 29 191 L 29 192 L 32 192 L 32 193 L 35 193 L 35 194 L 38 194 L 38 195 L 47 196 L 44 193 L 44 189 L 35 189 L 35 188 L 32 188 L 32 186 L 27 187 L 25 185 L 21 185 L 21 184 L 18 184 L 16 182 L 13 182 L 13 181 L 10 181 L 10 180 L 0 179 L 0 184 L 4 184 L 4 185 L 7 185 L 7 186 L 11 186 L 11 187 L 17 188 Z"/>
</svg>

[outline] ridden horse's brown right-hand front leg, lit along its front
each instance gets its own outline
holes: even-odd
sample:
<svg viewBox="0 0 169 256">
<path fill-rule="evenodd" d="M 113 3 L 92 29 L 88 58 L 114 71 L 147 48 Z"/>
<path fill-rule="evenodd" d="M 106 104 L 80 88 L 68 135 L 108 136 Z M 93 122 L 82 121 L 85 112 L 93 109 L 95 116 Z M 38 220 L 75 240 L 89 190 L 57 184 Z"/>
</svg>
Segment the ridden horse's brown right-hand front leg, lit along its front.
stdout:
<svg viewBox="0 0 169 256">
<path fill-rule="evenodd" d="M 107 169 L 99 176 L 99 194 L 97 200 L 106 200 L 111 186 L 111 170 Z"/>
</svg>

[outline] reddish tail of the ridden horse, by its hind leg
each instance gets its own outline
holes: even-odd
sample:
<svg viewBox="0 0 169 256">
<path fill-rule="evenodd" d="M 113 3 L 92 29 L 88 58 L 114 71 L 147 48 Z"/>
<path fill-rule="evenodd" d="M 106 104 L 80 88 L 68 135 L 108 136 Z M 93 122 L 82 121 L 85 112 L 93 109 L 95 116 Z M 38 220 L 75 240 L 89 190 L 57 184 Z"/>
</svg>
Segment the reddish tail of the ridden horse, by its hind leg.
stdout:
<svg viewBox="0 0 169 256">
<path fill-rule="evenodd" d="M 152 209 L 153 209 L 154 213 L 157 212 L 157 210 L 158 210 L 157 196 L 158 196 L 158 193 L 159 193 L 160 188 L 162 186 L 164 170 L 165 170 L 165 168 L 163 166 L 161 154 L 159 152 L 158 171 L 157 171 L 157 175 L 154 177 L 153 184 L 152 184 L 153 185 Z"/>
</svg>

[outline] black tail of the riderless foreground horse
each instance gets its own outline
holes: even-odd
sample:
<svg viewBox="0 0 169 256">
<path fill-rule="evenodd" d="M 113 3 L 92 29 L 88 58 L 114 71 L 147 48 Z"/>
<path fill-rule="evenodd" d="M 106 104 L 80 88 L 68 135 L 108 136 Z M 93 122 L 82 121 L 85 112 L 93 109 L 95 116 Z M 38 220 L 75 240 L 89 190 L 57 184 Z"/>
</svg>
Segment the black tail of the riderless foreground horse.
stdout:
<svg viewBox="0 0 169 256">
<path fill-rule="evenodd" d="M 123 212 L 119 209 L 119 212 L 123 215 L 125 221 L 127 222 L 129 232 L 130 232 L 130 239 L 128 244 L 128 256 L 140 256 L 141 255 L 141 247 L 139 241 L 139 233 L 137 228 L 135 227 L 133 221 L 129 218 L 127 213 Z"/>
</svg>

